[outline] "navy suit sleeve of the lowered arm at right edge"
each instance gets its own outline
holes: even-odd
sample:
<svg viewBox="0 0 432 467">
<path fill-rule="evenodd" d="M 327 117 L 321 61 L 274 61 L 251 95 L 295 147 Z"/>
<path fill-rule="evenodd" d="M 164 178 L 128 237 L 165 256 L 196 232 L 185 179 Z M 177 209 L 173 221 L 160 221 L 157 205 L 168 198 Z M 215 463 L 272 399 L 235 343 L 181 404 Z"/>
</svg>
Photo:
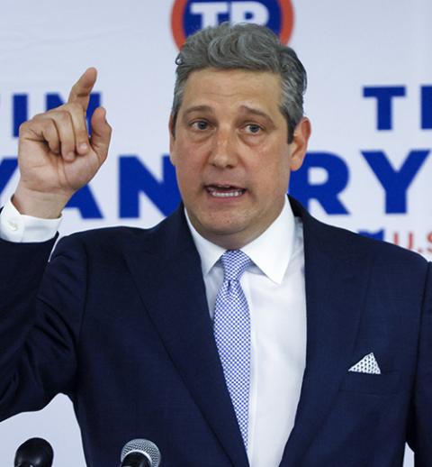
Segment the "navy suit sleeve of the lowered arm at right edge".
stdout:
<svg viewBox="0 0 432 467">
<path fill-rule="evenodd" d="M 424 290 L 408 443 L 414 451 L 415 467 L 429 467 L 432 462 L 432 263 L 428 265 Z"/>
</svg>

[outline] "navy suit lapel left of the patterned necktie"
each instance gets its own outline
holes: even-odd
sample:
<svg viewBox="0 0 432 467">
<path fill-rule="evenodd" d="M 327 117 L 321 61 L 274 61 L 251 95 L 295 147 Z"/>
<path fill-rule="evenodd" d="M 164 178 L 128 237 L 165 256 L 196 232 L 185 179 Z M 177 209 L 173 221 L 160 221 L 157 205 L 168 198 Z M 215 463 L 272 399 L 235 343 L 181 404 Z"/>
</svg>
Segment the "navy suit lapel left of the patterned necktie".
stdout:
<svg viewBox="0 0 432 467">
<path fill-rule="evenodd" d="M 147 245 L 126 253 L 139 294 L 175 367 L 236 467 L 247 467 L 202 280 L 201 261 L 183 209 L 157 226 Z"/>
</svg>

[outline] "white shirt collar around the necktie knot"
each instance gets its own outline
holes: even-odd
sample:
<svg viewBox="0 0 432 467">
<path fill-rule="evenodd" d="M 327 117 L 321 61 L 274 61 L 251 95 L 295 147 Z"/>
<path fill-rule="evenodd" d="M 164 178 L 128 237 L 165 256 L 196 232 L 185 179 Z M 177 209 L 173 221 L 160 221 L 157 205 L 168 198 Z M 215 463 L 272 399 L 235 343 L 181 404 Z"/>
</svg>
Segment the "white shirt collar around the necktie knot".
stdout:
<svg viewBox="0 0 432 467">
<path fill-rule="evenodd" d="M 202 275 L 206 276 L 226 250 L 202 237 L 194 229 L 185 209 L 184 214 L 201 257 Z M 270 224 L 253 242 L 241 248 L 241 251 L 245 252 L 269 279 L 281 284 L 293 254 L 294 232 L 293 211 L 285 198 L 281 214 L 276 217 L 273 224 Z"/>
</svg>

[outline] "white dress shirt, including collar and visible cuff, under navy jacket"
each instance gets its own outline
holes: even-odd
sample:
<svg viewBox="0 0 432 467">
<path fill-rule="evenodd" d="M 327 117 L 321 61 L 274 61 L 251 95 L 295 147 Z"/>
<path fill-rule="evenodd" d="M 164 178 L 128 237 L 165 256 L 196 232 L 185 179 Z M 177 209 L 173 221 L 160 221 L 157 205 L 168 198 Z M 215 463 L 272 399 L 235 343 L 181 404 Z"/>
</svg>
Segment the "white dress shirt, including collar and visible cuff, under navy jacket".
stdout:
<svg viewBox="0 0 432 467">
<path fill-rule="evenodd" d="M 201 256 L 211 317 L 223 281 L 223 248 L 187 222 Z M 52 238 L 61 219 L 21 215 L 11 201 L 0 213 L 0 237 L 10 242 Z M 241 249 L 253 261 L 240 283 L 251 324 L 247 457 L 251 467 L 277 467 L 293 429 L 306 362 L 306 296 L 302 222 L 285 201 L 282 213 Z"/>
</svg>

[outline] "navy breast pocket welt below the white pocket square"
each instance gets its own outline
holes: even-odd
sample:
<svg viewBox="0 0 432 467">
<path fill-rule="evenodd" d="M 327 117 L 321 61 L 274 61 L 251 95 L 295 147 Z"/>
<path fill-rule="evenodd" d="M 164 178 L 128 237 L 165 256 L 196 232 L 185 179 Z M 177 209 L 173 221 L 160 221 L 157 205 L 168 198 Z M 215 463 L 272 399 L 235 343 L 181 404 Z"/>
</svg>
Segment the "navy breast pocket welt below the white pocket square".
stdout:
<svg viewBox="0 0 432 467">
<path fill-rule="evenodd" d="M 363 394 L 395 394 L 400 387 L 399 371 L 382 374 L 358 373 L 347 371 L 340 390 L 345 392 L 359 392 Z"/>
</svg>

